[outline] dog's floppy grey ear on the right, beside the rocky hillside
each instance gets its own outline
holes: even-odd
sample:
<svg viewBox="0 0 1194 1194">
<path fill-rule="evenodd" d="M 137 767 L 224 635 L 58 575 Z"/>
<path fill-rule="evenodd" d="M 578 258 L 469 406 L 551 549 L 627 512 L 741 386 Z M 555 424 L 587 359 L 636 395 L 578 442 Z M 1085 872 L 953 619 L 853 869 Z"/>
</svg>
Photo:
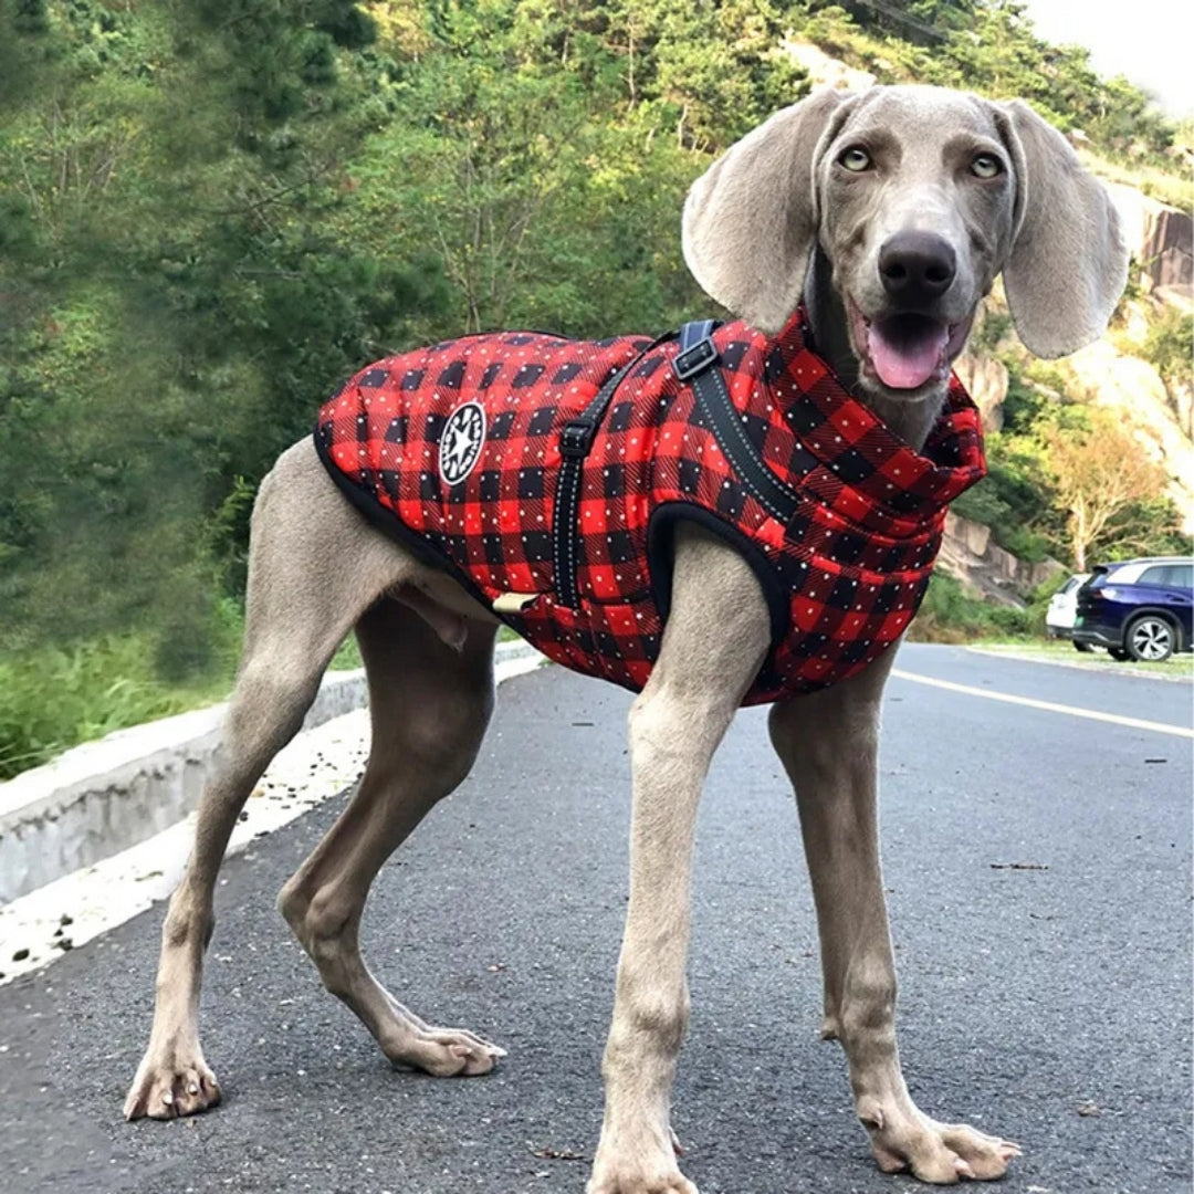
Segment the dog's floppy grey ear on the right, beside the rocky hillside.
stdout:
<svg viewBox="0 0 1194 1194">
<path fill-rule="evenodd" d="M 1064 357 L 1107 330 L 1127 281 L 1127 248 L 1103 185 L 1023 100 L 995 104 L 1016 171 L 1015 230 L 1003 285 L 1016 332 Z"/>
</svg>

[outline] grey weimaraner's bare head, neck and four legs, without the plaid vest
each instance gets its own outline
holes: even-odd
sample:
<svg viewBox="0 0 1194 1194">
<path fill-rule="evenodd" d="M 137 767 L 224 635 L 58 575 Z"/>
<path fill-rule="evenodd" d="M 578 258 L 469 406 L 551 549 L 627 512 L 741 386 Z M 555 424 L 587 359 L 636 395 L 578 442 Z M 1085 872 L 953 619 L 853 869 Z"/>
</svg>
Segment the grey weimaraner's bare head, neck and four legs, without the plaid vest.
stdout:
<svg viewBox="0 0 1194 1194">
<path fill-rule="evenodd" d="M 919 86 L 821 92 L 776 113 L 694 184 L 683 250 L 702 288 L 763 333 L 804 302 L 823 358 L 915 449 L 997 275 L 1020 338 L 1058 357 L 1103 332 L 1127 271 L 1107 193 L 1058 133 L 1020 101 Z M 901 346 L 892 328 L 909 310 L 921 331 Z M 310 441 L 282 455 L 253 513 L 245 648 L 222 764 L 162 929 L 156 1011 L 129 1119 L 190 1115 L 220 1100 L 198 1036 L 216 872 L 245 799 L 298 730 L 350 630 L 368 671 L 373 752 L 278 907 L 324 984 L 392 1061 L 480 1075 L 503 1055 L 402 1007 L 358 949 L 377 870 L 476 756 L 493 708 L 497 624 L 492 610 L 362 518 Z M 697 527 L 682 529 L 658 659 L 629 716 L 630 899 L 589 1194 L 695 1194 L 669 1122 L 688 1020 L 694 823 L 713 752 L 770 636 L 741 555 Z M 940 1183 L 995 1178 L 1017 1146 L 930 1119 L 900 1071 L 876 838 L 880 698 L 894 653 L 770 712 L 817 904 L 823 1034 L 844 1047 L 881 1169 Z"/>
</svg>

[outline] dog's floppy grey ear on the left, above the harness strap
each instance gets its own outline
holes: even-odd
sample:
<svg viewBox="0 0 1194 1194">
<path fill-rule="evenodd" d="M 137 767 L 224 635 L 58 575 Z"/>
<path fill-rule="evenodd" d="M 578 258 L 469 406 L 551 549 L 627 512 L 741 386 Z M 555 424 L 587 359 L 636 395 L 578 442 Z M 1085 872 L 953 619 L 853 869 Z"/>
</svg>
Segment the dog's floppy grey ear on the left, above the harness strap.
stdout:
<svg viewBox="0 0 1194 1194">
<path fill-rule="evenodd" d="M 731 146 L 684 203 L 684 260 L 710 298 L 774 333 L 800 303 L 817 239 L 814 165 L 849 92 L 784 107 Z"/>
</svg>

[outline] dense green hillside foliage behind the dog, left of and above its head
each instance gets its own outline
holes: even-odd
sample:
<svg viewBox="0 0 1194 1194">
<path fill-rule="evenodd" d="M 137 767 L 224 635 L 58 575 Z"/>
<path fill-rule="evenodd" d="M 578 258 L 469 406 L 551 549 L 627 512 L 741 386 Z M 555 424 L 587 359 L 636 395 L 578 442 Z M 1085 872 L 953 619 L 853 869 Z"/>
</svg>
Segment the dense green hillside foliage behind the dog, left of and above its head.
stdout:
<svg viewBox="0 0 1194 1194">
<path fill-rule="evenodd" d="M 850 7 L 0 0 L 0 775 L 111 724 L 36 677 L 222 682 L 256 486 L 362 363 L 706 310 L 683 195 L 807 91 L 786 32 L 1165 147 L 1014 2 Z"/>
</svg>

